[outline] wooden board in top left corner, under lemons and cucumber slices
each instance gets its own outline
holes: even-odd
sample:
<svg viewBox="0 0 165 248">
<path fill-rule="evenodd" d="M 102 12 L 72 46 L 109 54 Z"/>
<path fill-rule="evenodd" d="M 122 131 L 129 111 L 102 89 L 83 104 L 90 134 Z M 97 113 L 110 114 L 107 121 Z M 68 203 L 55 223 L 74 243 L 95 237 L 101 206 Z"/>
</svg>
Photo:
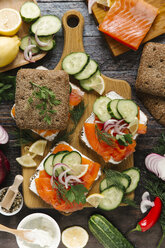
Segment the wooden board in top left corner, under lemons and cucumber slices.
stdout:
<svg viewBox="0 0 165 248">
<path fill-rule="evenodd" d="M 20 7 L 24 2 L 27 2 L 27 0 L 7 0 L 7 1 L 6 0 L 0 0 L 0 9 L 12 8 L 12 9 L 16 9 L 16 10 L 20 11 Z M 37 3 L 35 0 L 33 0 L 31 2 Z M 30 27 L 30 24 L 22 22 L 22 26 L 16 35 L 18 35 L 19 38 L 22 38 L 22 37 L 28 35 L 29 34 L 29 27 Z M 41 52 L 40 54 L 33 56 L 33 59 L 35 61 L 37 61 L 39 59 L 42 59 L 45 55 L 46 55 L 45 52 Z M 30 62 L 28 62 L 27 60 L 24 59 L 23 52 L 20 50 L 17 57 L 15 58 L 15 60 L 12 63 L 10 63 L 9 65 L 1 67 L 0 72 L 9 71 L 9 70 L 12 70 L 14 68 L 17 68 L 17 67 L 29 64 L 29 63 Z"/>
</svg>

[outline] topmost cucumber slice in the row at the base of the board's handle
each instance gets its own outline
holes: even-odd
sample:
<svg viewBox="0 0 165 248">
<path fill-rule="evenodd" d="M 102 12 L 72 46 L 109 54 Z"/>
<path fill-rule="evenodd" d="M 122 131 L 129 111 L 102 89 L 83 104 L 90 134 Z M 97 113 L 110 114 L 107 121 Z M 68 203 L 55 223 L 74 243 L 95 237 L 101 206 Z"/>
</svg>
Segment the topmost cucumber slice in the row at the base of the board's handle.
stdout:
<svg viewBox="0 0 165 248">
<path fill-rule="evenodd" d="M 86 53 L 70 53 L 62 61 L 62 69 L 70 75 L 82 71 L 89 62 L 89 55 Z"/>
</svg>

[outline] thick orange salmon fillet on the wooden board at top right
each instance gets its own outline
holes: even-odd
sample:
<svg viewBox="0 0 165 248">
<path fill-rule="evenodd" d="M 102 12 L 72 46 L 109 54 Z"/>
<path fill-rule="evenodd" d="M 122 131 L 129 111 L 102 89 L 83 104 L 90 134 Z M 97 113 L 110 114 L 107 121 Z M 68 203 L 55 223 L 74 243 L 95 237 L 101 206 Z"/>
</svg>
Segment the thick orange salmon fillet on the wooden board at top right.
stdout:
<svg viewBox="0 0 165 248">
<path fill-rule="evenodd" d="M 137 50 L 157 15 L 158 9 L 143 0 L 115 0 L 99 30 Z"/>
</svg>

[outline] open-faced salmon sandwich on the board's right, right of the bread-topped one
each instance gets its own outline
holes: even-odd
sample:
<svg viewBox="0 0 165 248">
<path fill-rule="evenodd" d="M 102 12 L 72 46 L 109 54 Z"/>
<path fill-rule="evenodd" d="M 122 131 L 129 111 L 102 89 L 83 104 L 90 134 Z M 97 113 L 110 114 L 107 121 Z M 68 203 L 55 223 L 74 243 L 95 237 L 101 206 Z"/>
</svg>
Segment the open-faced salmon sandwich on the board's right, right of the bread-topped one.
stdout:
<svg viewBox="0 0 165 248">
<path fill-rule="evenodd" d="M 95 101 L 81 140 L 105 162 L 118 164 L 135 151 L 135 139 L 146 133 L 146 124 L 146 115 L 134 101 L 111 91 Z"/>
</svg>

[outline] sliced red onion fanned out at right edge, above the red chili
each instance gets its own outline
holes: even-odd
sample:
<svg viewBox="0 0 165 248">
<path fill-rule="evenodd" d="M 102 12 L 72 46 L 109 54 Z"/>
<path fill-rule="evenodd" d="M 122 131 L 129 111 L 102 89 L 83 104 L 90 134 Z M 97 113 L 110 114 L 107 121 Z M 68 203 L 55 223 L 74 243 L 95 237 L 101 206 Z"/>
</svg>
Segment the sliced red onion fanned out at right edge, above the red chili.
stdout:
<svg viewBox="0 0 165 248">
<path fill-rule="evenodd" d="M 165 181 L 165 157 L 151 153 L 145 158 L 147 169 Z"/>
</svg>

